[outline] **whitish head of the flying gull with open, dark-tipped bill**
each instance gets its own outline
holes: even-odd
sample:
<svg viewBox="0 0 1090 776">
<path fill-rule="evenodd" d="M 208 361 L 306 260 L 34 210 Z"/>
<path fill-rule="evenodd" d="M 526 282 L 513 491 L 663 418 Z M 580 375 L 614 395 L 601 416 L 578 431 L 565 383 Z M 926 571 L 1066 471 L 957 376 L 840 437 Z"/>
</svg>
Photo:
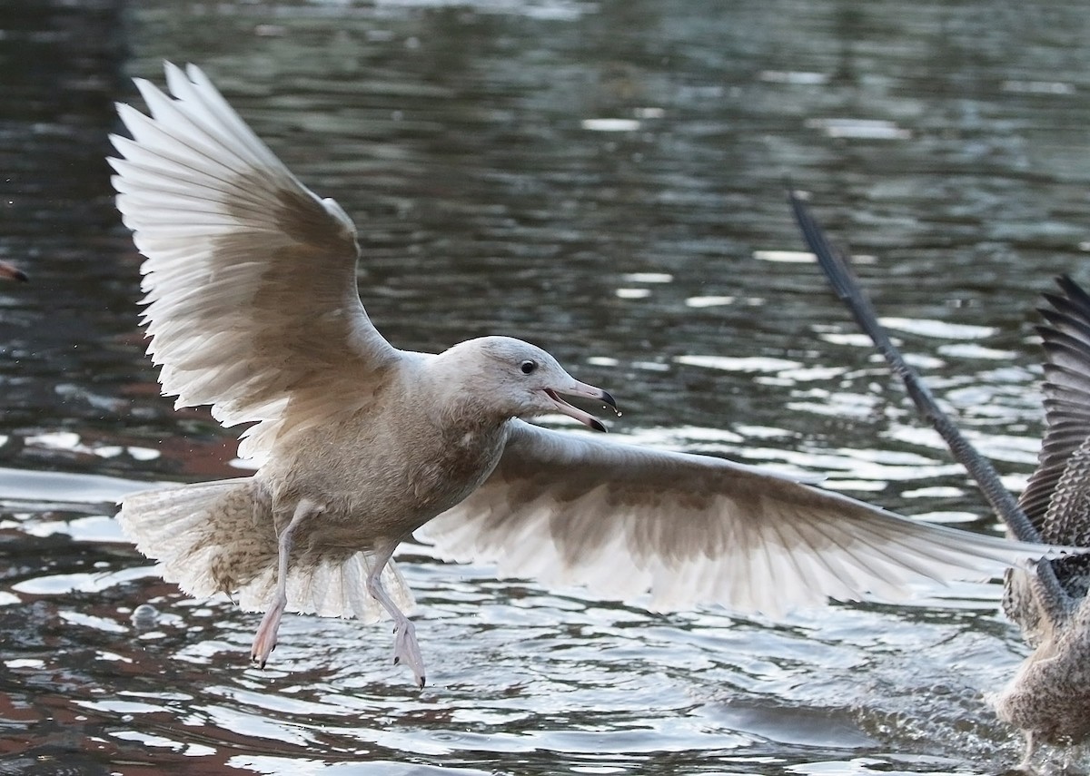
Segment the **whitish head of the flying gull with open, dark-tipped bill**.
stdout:
<svg viewBox="0 0 1090 776">
<path fill-rule="evenodd" d="M 606 428 L 594 415 L 572 407 L 561 396 L 582 397 L 609 404 L 609 393 L 580 383 L 541 348 L 511 337 L 481 337 L 461 342 L 443 353 L 457 366 L 459 390 L 506 417 L 532 417 L 560 412 L 595 431 Z"/>
</svg>

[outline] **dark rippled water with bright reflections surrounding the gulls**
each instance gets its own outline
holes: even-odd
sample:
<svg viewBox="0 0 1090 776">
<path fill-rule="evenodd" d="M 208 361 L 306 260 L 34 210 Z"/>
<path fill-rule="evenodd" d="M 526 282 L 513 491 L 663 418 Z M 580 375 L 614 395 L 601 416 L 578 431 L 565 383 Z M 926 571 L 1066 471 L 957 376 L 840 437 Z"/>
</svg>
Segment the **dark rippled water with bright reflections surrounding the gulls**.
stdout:
<svg viewBox="0 0 1090 776">
<path fill-rule="evenodd" d="M 1010 767 L 983 694 L 1025 648 L 995 584 L 659 616 L 409 546 L 424 692 L 344 620 L 289 617 L 250 668 L 257 616 L 181 596 L 111 519 L 244 472 L 234 432 L 158 396 L 104 157 L 130 77 L 197 62 L 360 225 L 395 343 L 531 339 L 618 396 L 621 437 L 992 531 L 798 253 L 784 182 L 1020 488 L 1033 306 L 1090 280 L 1088 25 L 1061 2 L 0 5 L 0 259 L 33 278 L 0 287 L 0 774 Z"/>
</svg>

